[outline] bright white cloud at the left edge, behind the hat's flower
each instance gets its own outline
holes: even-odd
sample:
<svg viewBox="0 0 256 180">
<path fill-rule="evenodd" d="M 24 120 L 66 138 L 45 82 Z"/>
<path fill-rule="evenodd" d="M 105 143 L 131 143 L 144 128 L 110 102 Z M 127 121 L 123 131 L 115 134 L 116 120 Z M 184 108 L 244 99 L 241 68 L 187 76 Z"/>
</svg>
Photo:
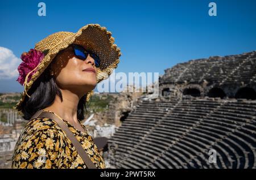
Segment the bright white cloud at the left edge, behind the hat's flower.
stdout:
<svg viewBox="0 0 256 180">
<path fill-rule="evenodd" d="M 10 49 L 0 47 L 0 79 L 18 78 L 20 61 Z"/>
</svg>

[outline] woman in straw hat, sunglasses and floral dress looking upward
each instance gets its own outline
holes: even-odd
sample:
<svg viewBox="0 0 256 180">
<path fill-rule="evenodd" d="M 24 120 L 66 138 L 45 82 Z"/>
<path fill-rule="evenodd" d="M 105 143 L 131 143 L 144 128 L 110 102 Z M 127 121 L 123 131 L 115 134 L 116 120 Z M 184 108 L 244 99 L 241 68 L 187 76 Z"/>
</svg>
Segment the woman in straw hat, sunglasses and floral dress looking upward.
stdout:
<svg viewBox="0 0 256 180">
<path fill-rule="evenodd" d="M 15 145 L 13 168 L 105 168 L 81 120 L 92 90 L 119 62 L 111 35 L 88 24 L 77 33 L 54 33 L 22 54 L 17 80 L 24 92 L 15 109 L 29 121 Z"/>
</svg>

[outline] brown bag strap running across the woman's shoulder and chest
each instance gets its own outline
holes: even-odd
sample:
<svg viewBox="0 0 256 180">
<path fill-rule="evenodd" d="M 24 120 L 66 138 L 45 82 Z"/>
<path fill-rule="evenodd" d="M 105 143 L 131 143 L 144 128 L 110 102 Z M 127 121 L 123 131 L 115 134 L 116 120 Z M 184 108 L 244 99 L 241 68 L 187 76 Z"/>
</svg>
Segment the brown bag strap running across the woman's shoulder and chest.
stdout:
<svg viewBox="0 0 256 180">
<path fill-rule="evenodd" d="M 76 148 L 76 151 L 81 156 L 81 158 L 84 161 L 85 165 L 89 169 L 96 169 L 95 164 L 92 162 L 92 160 L 90 160 L 90 158 L 87 155 L 86 151 L 84 150 L 84 148 L 82 147 L 80 142 L 76 139 L 76 136 L 71 132 L 71 130 L 69 130 L 67 123 L 65 123 L 59 117 L 56 117 L 55 114 L 49 113 L 49 112 L 44 112 L 43 110 L 39 110 L 38 112 L 36 112 L 31 119 L 34 119 L 34 118 L 49 118 L 49 119 L 53 119 L 53 121 L 55 121 L 60 126 L 61 130 L 63 130 L 65 132 L 65 134 L 67 135 L 68 139 L 71 140 L 72 144 L 74 145 L 74 147 Z"/>
</svg>

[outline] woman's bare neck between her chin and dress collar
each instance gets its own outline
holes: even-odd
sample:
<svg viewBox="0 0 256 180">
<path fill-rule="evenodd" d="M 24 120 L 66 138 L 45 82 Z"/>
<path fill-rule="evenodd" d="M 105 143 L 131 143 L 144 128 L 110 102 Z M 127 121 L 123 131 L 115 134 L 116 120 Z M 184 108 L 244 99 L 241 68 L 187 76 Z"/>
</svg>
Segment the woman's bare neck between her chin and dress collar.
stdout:
<svg viewBox="0 0 256 180">
<path fill-rule="evenodd" d="M 77 105 L 79 104 L 80 96 L 68 90 L 60 89 L 63 101 L 59 96 L 56 95 L 55 101 L 52 105 L 44 108 L 44 110 L 50 110 L 61 118 L 65 119 L 70 123 L 78 124 L 77 119 Z"/>
</svg>

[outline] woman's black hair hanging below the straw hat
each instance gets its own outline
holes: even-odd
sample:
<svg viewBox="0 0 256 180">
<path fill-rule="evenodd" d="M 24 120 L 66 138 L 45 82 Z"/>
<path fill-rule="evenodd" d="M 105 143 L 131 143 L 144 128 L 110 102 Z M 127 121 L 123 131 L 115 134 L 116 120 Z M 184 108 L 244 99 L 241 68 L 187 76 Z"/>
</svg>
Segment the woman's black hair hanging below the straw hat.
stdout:
<svg viewBox="0 0 256 180">
<path fill-rule="evenodd" d="M 31 88 L 28 90 L 28 95 L 24 98 L 22 104 L 20 104 L 18 110 L 23 113 L 23 118 L 26 120 L 31 119 L 38 110 L 47 108 L 50 106 L 56 95 L 63 101 L 60 88 L 56 84 L 55 77 L 50 74 L 49 67 L 35 80 Z M 79 100 L 77 105 L 77 119 L 81 121 L 84 119 L 84 112 L 86 113 L 86 96 L 84 95 Z"/>
</svg>

